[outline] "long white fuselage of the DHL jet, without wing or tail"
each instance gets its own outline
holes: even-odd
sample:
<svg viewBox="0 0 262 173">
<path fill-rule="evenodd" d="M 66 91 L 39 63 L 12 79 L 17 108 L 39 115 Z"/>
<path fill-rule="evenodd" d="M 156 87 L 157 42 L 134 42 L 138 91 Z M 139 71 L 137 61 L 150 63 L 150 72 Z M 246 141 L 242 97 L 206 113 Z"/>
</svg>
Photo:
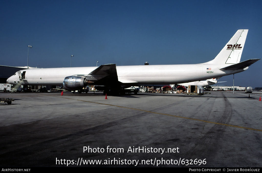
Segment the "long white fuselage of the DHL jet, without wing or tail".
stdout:
<svg viewBox="0 0 262 173">
<path fill-rule="evenodd" d="M 241 70 L 221 71 L 225 64 L 181 64 L 181 65 L 130 65 L 116 66 L 118 81 L 122 83 L 139 84 L 171 84 L 185 83 L 208 78 L 216 78 Z M 97 67 L 71 68 L 41 68 L 25 69 L 25 84 L 28 85 L 62 85 L 65 77 L 72 75 L 87 75 Z M 207 70 L 209 69 L 209 70 Z M 18 74 L 8 78 L 7 82 L 14 84 Z"/>
</svg>

